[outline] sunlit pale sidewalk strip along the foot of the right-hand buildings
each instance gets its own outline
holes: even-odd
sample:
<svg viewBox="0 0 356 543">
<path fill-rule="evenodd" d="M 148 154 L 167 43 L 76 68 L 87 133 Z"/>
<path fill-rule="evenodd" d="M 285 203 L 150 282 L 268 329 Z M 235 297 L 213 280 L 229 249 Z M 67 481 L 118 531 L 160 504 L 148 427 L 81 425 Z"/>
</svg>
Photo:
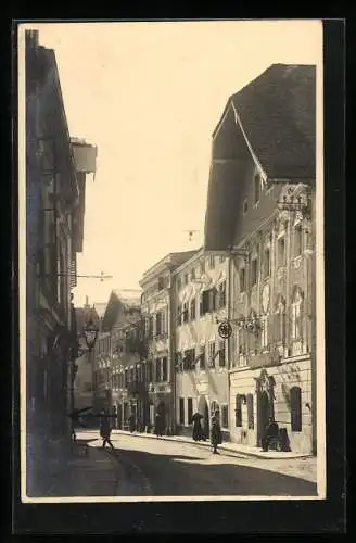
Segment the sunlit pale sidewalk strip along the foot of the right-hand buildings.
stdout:
<svg viewBox="0 0 356 543">
<path fill-rule="evenodd" d="M 125 434 L 125 435 L 130 435 L 129 431 L 125 430 L 113 430 L 113 435 L 115 434 Z M 148 438 L 148 439 L 154 439 L 156 440 L 156 435 L 154 433 L 141 433 L 141 432 L 136 432 L 135 435 L 139 435 L 141 438 Z M 207 446 L 211 447 L 211 442 L 209 441 L 194 441 L 192 438 L 188 438 L 186 435 L 162 435 L 160 438 L 161 440 L 164 441 L 176 441 L 180 443 L 193 443 L 194 445 L 199 446 Z M 236 454 L 238 456 L 254 456 L 257 458 L 264 458 L 264 459 L 292 459 L 292 458 L 312 458 L 313 456 L 310 454 L 302 454 L 302 453 L 283 453 L 283 452 L 278 452 L 278 451 L 268 451 L 268 452 L 263 452 L 259 447 L 255 446 L 249 446 L 249 445 L 241 445 L 239 443 L 230 443 L 226 442 L 219 445 L 219 451 L 224 451 L 226 453 L 230 454 Z"/>
</svg>

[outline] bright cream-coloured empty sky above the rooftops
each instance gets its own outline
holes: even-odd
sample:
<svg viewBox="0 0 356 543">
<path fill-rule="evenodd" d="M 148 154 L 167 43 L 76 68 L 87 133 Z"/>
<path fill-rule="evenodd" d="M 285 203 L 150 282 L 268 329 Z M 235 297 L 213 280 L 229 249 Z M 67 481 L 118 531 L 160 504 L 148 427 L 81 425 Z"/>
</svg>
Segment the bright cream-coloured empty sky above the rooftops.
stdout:
<svg viewBox="0 0 356 543">
<path fill-rule="evenodd" d="M 137 288 L 203 241 L 211 135 L 230 94 L 272 63 L 320 64 L 318 21 L 27 24 L 55 50 L 71 136 L 98 146 L 76 305 Z M 189 242 L 186 230 L 200 230 Z"/>
</svg>

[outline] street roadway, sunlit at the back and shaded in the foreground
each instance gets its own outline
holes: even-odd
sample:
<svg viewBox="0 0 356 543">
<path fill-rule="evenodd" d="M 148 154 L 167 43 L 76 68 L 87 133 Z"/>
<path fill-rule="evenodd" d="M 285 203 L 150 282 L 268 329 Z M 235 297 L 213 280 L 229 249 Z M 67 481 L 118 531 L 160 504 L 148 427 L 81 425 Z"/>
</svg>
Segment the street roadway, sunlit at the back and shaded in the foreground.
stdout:
<svg viewBox="0 0 356 543">
<path fill-rule="evenodd" d="M 82 432 L 91 447 L 100 447 L 98 432 Z M 116 495 L 317 495 L 317 485 L 301 467 L 309 459 L 259 459 L 213 455 L 208 447 L 147 439 L 139 434 L 112 435 L 118 484 Z M 99 452 L 99 451 L 98 451 Z M 309 479 L 309 480 L 307 480 Z"/>
</svg>

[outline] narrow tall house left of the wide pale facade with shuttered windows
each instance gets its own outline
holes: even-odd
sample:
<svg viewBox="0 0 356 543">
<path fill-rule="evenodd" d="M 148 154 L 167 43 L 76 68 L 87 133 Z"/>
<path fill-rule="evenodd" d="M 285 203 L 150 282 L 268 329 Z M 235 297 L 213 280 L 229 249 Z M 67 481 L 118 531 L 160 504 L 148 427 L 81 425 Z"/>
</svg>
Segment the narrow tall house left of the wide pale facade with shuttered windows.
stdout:
<svg viewBox="0 0 356 543">
<path fill-rule="evenodd" d="M 174 330 L 176 315 L 171 274 L 194 251 L 169 253 L 148 269 L 140 281 L 142 288 L 141 314 L 144 323 L 147 358 L 144 361 L 149 387 L 149 424 L 155 416 L 164 420 L 166 433 L 175 433 L 175 356 Z"/>
</svg>

